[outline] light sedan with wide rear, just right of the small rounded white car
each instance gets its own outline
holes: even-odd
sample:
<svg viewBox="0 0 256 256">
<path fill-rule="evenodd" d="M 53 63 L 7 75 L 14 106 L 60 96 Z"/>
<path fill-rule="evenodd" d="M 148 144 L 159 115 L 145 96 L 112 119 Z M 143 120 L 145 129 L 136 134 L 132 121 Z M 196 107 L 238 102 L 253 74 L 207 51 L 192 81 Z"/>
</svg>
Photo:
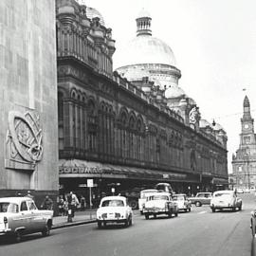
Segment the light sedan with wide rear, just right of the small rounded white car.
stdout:
<svg viewBox="0 0 256 256">
<path fill-rule="evenodd" d="M 150 215 L 156 218 L 160 214 L 166 214 L 172 218 L 173 214 L 178 215 L 178 205 L 169 192 L 157 192 L 147 197 L 143 213 L 146 219 L 149 219 Z"/>
</svg>

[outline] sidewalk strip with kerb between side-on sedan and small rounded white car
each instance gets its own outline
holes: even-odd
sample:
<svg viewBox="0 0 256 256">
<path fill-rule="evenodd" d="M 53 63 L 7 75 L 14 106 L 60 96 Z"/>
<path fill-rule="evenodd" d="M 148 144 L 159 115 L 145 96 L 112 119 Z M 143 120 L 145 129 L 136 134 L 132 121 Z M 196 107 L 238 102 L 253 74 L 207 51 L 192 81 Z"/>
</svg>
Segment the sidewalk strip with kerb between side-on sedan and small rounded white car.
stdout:
<svg viewBox="0 0 256 256">
<path fill-rule="evenodd" d="M 96 222 L 96 210 L 79 210 L 75 212 L 72 222 L 67 222 L 67 216 L 53 217 L 52 229 L 62 229 L 93 222 Z"/>
</svg>

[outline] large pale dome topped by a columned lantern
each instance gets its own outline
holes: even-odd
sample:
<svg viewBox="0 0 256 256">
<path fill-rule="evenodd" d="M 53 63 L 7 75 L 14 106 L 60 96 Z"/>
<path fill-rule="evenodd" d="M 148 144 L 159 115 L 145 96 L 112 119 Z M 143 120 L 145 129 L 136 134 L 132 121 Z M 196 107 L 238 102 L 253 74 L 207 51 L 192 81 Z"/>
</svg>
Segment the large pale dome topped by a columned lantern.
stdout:
<svg viewBox="0 0 256 256">
<path fill-rule="evenodd" d="M 152 36 L 150 14 L 142 9 L 136 22 L 137 37 L 126 47 L 119 48 L 114 56 L 114 64 L 118 66 L 116 70 L 124 77 L 130 73 L 130 68 L 148 70 L 150 80 L 158 81 L 161 89 L 178 84 L 181 74 L 176 68 L 174 52 L 170 46 Z"/>
</svg>

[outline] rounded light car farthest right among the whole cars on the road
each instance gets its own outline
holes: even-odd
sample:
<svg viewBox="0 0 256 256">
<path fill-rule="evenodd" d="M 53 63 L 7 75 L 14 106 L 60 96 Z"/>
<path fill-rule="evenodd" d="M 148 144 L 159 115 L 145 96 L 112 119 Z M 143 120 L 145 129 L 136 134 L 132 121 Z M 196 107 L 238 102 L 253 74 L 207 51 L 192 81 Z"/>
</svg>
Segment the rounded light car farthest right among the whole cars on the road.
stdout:
<svg viewBox="0 0 256 256">
<path fill-rule="evenodd" d="M 234 191 L 213 192 L 213 197 L 210 200 L 210 209 L 212 212 L 223 209 L 242 210 L 242 199 L 237 197 Z"/>
</svg>

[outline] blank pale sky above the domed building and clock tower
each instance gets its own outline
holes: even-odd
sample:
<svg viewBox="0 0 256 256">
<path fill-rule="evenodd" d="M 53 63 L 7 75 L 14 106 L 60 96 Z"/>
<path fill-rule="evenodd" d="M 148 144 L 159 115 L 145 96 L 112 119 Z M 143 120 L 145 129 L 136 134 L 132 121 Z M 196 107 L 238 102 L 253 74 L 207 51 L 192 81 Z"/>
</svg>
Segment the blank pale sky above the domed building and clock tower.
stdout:
<svg viewBox="0 0 256 256">
<path fill-rule="evenodd" d="M 82 0 L 112 28 L 117 51 L 136 37 L 136 18 L 152 16 L 153 36 L 171 46 L 179 86 L 196 101 L 202 119 L 220 123 L 231 155 L 239 147 L 243 101 L 256 119 L 255 0 Z M 119 60 L 113 57 L 114 68 Z"/>
</svg>

